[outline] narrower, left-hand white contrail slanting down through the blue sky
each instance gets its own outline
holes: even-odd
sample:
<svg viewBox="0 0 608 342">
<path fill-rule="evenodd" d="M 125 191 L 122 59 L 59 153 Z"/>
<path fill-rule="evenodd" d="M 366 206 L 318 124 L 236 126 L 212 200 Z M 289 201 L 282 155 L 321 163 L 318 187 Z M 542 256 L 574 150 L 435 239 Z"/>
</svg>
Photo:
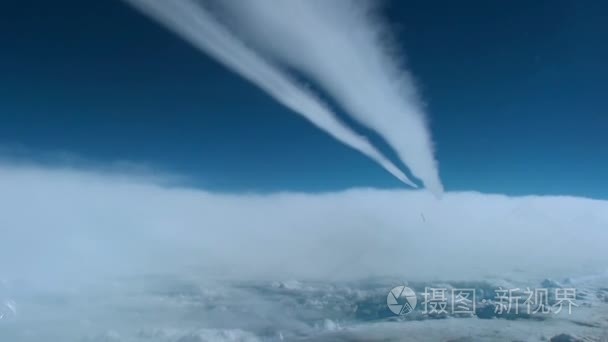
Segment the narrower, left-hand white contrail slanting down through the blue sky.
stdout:
<svg viewBox="0 0 608 342">
<path fill-rule="evenodd" d="M 249 49 L 194 1 L 125 1 L 256 84 L 335 139 L 376 161 L 402 182 L 417 187 L 365 137 L 342 123 L 313 93 Z"/>
</svg>

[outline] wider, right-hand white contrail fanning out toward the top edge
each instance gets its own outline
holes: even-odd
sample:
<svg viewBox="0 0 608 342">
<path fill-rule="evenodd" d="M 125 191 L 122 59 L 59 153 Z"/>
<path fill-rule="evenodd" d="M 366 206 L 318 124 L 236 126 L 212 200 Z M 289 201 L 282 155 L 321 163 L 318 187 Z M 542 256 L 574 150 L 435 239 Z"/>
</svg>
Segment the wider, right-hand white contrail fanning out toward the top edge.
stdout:
<svg viewBox="0 0 608 342">
<path fill-rule="evenodd" d="M 247 44 L 314 79 L 377 132 L 412 174 L 443 193 L 431 134 L 412 76 L 386 39 L 371 1 L 207 0 Z"/>
</svg>

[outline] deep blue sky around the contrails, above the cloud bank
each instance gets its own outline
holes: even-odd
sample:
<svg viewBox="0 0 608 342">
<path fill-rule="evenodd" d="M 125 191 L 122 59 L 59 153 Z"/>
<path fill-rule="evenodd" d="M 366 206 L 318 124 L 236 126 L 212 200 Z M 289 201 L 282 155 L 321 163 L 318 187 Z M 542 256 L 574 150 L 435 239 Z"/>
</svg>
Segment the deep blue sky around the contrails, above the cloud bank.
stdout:
<svg viewBox="0 0 608 342">
<path fill-rule="evenodd" d="M 608 197 L 605 2 L 385 10 L 448 191 Z M 10 158 L 127 160 L 222 191 L 402 187 L 119 1 L 2 3 L 0 43 L 0 146 Z"/>
</svg>

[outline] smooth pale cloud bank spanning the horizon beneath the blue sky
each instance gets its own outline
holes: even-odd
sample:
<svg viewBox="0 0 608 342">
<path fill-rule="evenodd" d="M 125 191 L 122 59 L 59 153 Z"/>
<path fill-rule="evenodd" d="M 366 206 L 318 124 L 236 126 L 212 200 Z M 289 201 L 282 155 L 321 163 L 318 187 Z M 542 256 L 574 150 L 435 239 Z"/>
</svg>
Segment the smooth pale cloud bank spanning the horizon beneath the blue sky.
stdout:
<svg viewBox="0 0 608 342">
<path fill-rule="evenodd" d="M 352 189 L 221 194 L 0 164 L 0 280 L 470 279 L 605 271 L 608 201 Z"/>
</svg>

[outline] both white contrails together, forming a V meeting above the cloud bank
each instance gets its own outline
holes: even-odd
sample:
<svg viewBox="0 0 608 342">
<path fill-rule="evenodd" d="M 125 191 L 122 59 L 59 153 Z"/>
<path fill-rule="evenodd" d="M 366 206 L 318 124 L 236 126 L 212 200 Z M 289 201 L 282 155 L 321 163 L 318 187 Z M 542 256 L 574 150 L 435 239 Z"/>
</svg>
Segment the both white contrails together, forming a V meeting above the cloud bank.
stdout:
<svg viewBox="0 0 608 342">
<path fill-rule="evenodd" d="M 411 77 L 389 56 L 382 28 L 370 20 L 363 2 L 217 2 L 224 23 L 193 0 L 127 2 L 415 187 L 283 67 L 312 77 L 349 114 L 379 133 L 427 188 L 442 193 Z"/>
</svg>

